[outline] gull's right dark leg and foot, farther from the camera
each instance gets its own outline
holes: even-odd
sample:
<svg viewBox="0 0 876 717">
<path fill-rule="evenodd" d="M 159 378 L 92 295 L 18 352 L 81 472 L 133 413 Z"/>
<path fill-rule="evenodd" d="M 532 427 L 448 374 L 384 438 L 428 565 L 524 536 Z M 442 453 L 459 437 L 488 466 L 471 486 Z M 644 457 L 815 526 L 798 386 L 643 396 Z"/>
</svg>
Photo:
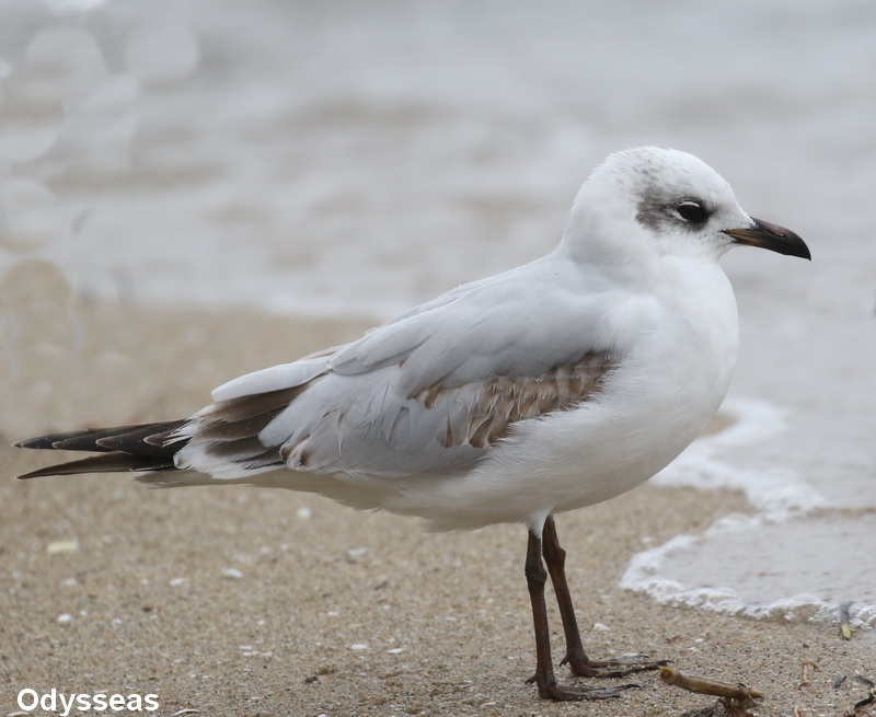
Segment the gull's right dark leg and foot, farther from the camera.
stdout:
<svg viewBox="0 0 876 717">
<path fill-rule="evenodd" d="M 531 536 L 530 536 L 531 540 Z M 560 546 L 556 537 L 556 525 L 553 516 L 544 521 L 542 531 L 542 554 L 551 574 L 551 582 L 556 593 L 556 603 L 560 606 L 560 616 L 563 618 L 563 632 L 566 635 L 566 656 L 560 664 L 568 663 L 572 673 L 583 678 L 623 678 L 631 672 L 656 670 L 658 662 L 646 662 L 646 656 L 637 656 L 643 660 L 608 660 L 597 662 L 587 657 L 581 645 L 578 632 L 578 621 L 575 618 L 575 609 L 572 605 L 572 594 L 566 582 L 566 552 Z"/>
</svg>

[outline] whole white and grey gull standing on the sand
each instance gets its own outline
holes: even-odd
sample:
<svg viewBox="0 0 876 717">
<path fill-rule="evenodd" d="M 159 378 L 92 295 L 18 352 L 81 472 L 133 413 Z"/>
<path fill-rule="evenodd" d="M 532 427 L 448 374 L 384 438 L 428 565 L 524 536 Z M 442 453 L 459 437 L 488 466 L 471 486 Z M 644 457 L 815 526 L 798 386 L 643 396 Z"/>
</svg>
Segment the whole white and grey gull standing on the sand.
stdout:
<svg viewBox="0 0 876 717">
<path fill-rule="evenodd" d="M 522 523 L 535 633 L 529 682 L 545 698 L 616 697 L 633 685 L 557 683 L 549 575 L 561 664 L 574 675 L 623 676 L 658 662 L 585 652 L 554 516 L 644 483 L 717 410 L 738 348 L 718 259 L 735 244 L 810 258 L 797 234 L 747 215 L 698 158 L 616 152 L 581 186 L 546 256 L 350 344 L 234 379 L 188 418 L 16 443 L 99 453 L 20 477 L 134 471 L 154 486 L 312 492 L 417 516 L 433 530 Z"/>
</svg>

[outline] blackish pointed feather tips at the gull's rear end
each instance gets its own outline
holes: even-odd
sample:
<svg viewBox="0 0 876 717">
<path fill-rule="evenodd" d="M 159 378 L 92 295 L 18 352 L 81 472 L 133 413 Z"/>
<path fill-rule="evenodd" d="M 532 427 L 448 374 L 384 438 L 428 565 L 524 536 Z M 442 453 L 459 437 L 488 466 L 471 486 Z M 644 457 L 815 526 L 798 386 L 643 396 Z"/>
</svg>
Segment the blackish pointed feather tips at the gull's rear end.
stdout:
<svg viewBox="0 0 876 717">
<path fill-rule="evenodd" d="M 78 461 L 69 461 L 20 475 L 20 479 L 78 473 L 115 473 L 120 471 L 175 471 L 173 456 L 188 442 L 175 439 L 175 431 L 186 420 L 155 424 L 90 428 L 67 433 L 49 433 L 15 443 L 16 448 L 94 451 Z"/>
</svg>

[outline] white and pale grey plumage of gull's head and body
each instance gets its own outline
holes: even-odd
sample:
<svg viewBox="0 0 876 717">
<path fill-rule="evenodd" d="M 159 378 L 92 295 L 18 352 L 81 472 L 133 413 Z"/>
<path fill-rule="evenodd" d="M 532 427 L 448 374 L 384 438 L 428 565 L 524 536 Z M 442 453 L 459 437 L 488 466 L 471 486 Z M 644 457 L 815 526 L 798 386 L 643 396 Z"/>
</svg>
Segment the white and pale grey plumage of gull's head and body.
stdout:
<svg viewBox="0 0 876 717">
<path fill-rule="evenodd" d="M 708 207 L 702 225 L 673 213 L 685 199 Z M 722 230 L 751 225 L 729 185 L 690 154 L 614 154 L 583 186 L 553 253 L 357 342 L 220 386 L 219 403 L 180 431 L 189 440 L 176 466 L 315 489 L 439 530 L 502 521 L 538 530 L 548 514 L 649 478 L 717 409 L 737 354 L 736 304 L 717 265 L 734 239 Z M 487 444 L 458 439 L 492 382 L 519 390 L 588 356 L 607 357 L 596 390 L 510 423 Z M 301 392 L 257 433 L 283 458 L 279 475 L 276 463 L 216 453 L 201 436 L 221 421 L 222 402 L 295 386 Z M 429 391 L 434 402 L 423 397 Z"/>
</svg>

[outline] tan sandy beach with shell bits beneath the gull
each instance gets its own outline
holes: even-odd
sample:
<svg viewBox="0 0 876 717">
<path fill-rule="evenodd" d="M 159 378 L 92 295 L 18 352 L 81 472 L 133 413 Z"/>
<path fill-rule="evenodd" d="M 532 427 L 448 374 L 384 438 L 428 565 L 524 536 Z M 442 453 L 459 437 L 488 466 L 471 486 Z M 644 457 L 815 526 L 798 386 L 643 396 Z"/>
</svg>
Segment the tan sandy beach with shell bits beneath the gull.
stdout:
<svg viewBox="0 0 876 717">
<path fill-rule="evenodd" d="M 50 458 L 8 448 L 14 440 L 186 415 L 229 378 L 366 327 L 51 296 L 54 329 L 24 322 L 7 355 L 0 714 L 20 713 L 25 689 L 157 694 L 161 715 L 680 716 L 715 703 L 655 673 L 636 675 L 641 689 L 621 699 L 539 699 L 526 684 L 534 647 L 520 525 L 427 534 L 411 519 L 293 493 L 13 481 Z M 661 606 L 616 587 L 644 545 L 747 510 L 739 495 L 646 485 L 560 517 L 586 647 L 745 682 L 765 695 L 753 714 L 850 714 L 867 695 L 855 675 L 874 678 L 873 631 L 845 641 L 837 625 Z"/>
</svg>

